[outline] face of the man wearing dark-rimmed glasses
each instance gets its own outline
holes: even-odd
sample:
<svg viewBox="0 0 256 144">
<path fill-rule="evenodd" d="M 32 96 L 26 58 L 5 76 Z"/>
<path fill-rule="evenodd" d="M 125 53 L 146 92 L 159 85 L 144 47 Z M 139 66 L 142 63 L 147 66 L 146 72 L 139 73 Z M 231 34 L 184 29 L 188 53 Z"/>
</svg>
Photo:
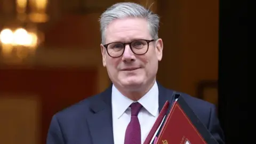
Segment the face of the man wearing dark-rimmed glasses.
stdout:
<svg viewBox="0 0 256 144">
<path fill-rule="evenodd" d="M 105 38 L 105 44 L 153 39 L 147 21 L 141 18 L 125 18 L 111 22 L 105 31 Z M 155 40 L 149 43 L 148 51 L 143 55 L 134 54 L 127 44 L 123 55 L 117 58 L 110 57 L 101 44 L 103 66 L 107 67 L 109 78 L 116 86 L 136 91 L 143 85 L 154 82 L 163 50 L 162 39 Z"/>
</svg>

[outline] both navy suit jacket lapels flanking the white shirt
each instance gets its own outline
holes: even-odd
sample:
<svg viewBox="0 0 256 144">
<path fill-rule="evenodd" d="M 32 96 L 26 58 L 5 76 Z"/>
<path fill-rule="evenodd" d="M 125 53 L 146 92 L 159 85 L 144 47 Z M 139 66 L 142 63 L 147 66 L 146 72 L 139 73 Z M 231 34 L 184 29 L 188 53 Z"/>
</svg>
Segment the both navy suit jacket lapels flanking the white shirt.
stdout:
<svg viewBox="0 0 256 144">
<path fill-rule="evenodd" d="M 159 82 L 157 82 L 157 85 L 159 92 L 158 110 L 161 111 L 166 100 L 170 101 L 171 105 L 174 102 L 174 91 L 165 89 Z M 91 102 L 92 115 L 87 118 L 87 123 L 93 143 L 114 143 L 111 90 L 112 84 L 110 84 L 106 91 L 95 96 L 96 98 Z"/>
</svg>

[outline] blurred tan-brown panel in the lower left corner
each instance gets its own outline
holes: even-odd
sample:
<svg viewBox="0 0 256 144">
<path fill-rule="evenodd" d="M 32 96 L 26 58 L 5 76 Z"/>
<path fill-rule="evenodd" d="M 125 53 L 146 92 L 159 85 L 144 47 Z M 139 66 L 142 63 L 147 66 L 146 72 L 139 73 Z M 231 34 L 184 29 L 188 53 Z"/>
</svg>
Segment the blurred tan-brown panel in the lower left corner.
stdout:
<svg viewBox="0 0 256 144">
<path fill-rule="evenodd" d="M 39 144 L 40 103 L 37 95 L 4 94 L 0 97 L 0 143 Z"/>
</svg>

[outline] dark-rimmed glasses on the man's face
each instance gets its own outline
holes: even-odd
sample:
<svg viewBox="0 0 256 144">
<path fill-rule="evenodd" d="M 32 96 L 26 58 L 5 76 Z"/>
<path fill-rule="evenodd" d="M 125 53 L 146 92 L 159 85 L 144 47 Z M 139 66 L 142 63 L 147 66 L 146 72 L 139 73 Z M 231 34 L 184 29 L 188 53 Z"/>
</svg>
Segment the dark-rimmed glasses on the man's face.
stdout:
<svg viewBox="0 0 256 144">
<path fill-rule="evenodd" d="M 149 43 L 155 41 L 154 39 L 137 39 L 130 43 L 113 42 L 103 45 L 110 57 L 117 58 L 121 57 L 124 53 L 125 45 L 129 44 L 130 49 L 134 54 L 142 55 L 147 53 Z"/>
</svg>

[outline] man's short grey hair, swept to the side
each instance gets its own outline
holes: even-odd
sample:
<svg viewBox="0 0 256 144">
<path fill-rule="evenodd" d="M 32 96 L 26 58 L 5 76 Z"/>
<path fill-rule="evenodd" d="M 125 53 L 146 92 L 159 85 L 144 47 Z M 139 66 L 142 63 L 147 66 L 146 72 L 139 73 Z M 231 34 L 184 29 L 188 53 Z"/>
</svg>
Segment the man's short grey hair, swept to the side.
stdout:
<svg viewBox="0 0 256 144">
<path fill-rule="evenodd" d="M 100 17 L 101 43 L 105 43 L 105 30 L 110 22 L 127 17 L 144 18 L 148 21 L 150 35 L 158 39 L 159 17 L 151 10 L 136 3 L 116 3 L 110 6 Z"/>
</svg>

